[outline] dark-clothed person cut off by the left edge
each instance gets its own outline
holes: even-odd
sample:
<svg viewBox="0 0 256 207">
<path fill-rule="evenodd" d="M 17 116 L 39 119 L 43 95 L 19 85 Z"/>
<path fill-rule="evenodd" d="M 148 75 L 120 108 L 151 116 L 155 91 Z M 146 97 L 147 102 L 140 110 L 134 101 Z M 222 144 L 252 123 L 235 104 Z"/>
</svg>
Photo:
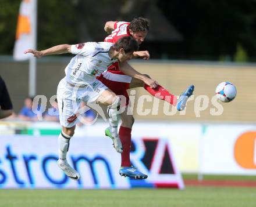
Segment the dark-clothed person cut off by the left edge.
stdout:
<svg viewBox="0 0 256 207">
<path fill-rule="evenodd" d="M 12 115 L 12 112 L 12 101 L 10 100 L 5 82 L 0 76 L 0 119 L 9 117 Z"/>
</svg>

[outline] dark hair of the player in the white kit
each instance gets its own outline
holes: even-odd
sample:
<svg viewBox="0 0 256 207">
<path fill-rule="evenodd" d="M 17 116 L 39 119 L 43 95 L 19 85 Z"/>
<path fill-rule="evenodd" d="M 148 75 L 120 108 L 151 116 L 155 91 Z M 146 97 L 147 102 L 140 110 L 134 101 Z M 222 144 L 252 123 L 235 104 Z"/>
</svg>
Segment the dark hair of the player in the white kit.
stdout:
<svg viewBox="0 0 256 207">
<path fill-rule="evenodd" d="M 130 53 L 138 50 L 138 43 L 130 36 L 122 37 L 113 45 L 113 49 L 119 51 L 121 48 L 125 50 L 125 53 Z"/>
</svg>

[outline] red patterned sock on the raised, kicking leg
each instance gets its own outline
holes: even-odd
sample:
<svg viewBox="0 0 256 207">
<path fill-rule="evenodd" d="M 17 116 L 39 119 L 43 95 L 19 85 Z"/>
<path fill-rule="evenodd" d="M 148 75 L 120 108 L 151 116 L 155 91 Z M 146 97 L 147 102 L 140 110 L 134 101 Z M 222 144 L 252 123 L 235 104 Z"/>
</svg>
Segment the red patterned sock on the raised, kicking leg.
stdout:
<svg viewBox="0 0 256 207">
<path fill-rule="evenodd" d="M 165 88 L 161 85 L 158 85 L 157 88 L 150 88 L 149 85 L 144 85 L 144 89 L 148 91 L 152 96 L 157 97 L 158 99 L 165 100 L 168 103 L 176 106 L 177 104 L 177 97 L 170 94 Z"/>
</svg>

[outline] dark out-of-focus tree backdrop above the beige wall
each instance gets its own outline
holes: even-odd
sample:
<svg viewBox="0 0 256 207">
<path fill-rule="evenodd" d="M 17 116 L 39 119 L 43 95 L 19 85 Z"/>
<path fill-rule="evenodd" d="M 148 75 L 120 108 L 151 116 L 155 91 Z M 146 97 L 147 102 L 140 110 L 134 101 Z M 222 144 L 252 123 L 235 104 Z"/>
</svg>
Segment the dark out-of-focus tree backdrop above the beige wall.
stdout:
<svg viewBox="0 0 256 207">
<path fill-rule="evenodd" d="M 20 2 L 0 1 L 1 55 L 12 54 Z M 175 28 L 167 30 L 167 24 L 163 26 L 163 18 L 158 19 L 160 12 L 151 14 L 151 22 L 157 21 L 152 28 L 157 31 L 158 39 L 150 39 L 154 33 L 151 30 L 150 41 L 145 41 L 141 49 L 150 50 L 152 58 L 161 58 L 164 53 L 174 59 L 219 60 L 231 56 L 234 60 L 238 43 L 247 52 L 249 60 L 256 57 L 255 0 L 38 0 L 37 48 L 102 41 L 106 35 L 103 30 L 106 21 L 129 21 L 135 16 L 146 15 L 150 9 L 162 10 L 177 29 L 176 36 L 183 37 L 182 42 L 164 40 L 163 35 L 158 35 L 159 31 L 168 31 L 171 36 L 170 31 Z"/>
</svg>

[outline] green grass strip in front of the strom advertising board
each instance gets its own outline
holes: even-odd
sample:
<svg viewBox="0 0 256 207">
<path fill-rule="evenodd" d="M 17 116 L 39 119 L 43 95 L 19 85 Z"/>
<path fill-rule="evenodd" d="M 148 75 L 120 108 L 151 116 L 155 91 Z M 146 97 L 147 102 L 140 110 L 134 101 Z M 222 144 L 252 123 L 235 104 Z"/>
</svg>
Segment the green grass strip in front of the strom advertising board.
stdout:
<svg viewBox="0 0 256 207">
<path fill-rule="evenodd" d="M 253 187 L 186 187 L 185 190 L 0 190 L 0 206 L 256 206 Z"/>
</svg>

